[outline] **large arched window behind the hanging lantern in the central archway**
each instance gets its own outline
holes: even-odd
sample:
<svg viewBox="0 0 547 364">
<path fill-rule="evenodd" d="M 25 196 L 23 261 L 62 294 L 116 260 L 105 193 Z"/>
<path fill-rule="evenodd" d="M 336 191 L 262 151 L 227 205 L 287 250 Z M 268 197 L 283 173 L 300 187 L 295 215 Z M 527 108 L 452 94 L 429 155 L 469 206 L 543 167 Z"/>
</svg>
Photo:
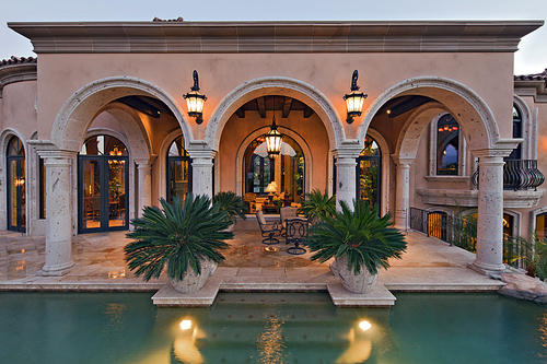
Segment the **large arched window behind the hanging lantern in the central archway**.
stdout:
<svg viewBox="0 0 547 364">
<path fill-rule="evenodd" d="M 258 198 L 271 197 L 271 201 L 280 207 L 290 206 L 303 199 L 305 192 L 304 153 L 292 138 L 284 136 L 281 142 L 281 153 L 270 160 L 264 137 L 258 137 L 245 150 L 243 163 L 245 181 L 243 195 L 246 201 L 253 201 L 253 198 L 249 198 L 252 195 Z M 270 203 L 266 203 L 268 204 Z M 277 211 L 272 208 L 266 212 Z"/>
</svg>

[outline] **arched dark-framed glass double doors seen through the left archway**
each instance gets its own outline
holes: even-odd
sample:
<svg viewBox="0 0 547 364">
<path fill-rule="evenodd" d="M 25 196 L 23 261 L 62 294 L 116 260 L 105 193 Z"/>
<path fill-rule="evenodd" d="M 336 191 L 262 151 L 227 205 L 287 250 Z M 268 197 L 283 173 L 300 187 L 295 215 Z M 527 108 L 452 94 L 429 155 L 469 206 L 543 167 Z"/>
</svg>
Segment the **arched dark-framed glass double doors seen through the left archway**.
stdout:
<svg viewBox="0 0 547 364">
<path fill-rule="evenodd" d="M 127 230 L 129 154 L 117 138 L 88 138 L 78 157 L 79 231 Z"/>
</svg>

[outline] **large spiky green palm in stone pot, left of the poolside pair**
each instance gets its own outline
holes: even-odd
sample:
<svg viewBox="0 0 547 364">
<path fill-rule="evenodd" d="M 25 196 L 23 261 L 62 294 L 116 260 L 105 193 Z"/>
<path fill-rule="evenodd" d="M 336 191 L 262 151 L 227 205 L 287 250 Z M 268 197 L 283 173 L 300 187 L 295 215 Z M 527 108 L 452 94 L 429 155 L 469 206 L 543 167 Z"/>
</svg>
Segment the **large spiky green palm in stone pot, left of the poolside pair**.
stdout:
<svg viewBox="0 0 547 364">
<path fill-rule="evenodd" d="M 219 204 L 211 206 L 207 196 L 188 193 L 168 203 L 160 199 L 162 209 L 144 207 L 142 218 L 131 220 L 135 231 L 126 236 L 133 239 L 125 248 L 125 260 L 135 275 L 144 281 L 160 278 L 164 267 L 173 287 L 182 293 L 199 291 L 217 265 L 224 260 L 221 250 L 233 233 L 224 231 L 231 224 Z"/>
</svg>

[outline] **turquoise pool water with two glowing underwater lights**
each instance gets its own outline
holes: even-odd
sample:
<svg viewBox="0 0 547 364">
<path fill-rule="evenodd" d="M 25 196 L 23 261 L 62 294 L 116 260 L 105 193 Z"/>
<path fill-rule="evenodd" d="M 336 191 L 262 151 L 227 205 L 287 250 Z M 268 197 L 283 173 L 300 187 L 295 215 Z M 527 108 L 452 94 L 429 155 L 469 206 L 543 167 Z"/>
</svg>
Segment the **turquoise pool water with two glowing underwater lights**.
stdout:
<svg viewBox="0 0 547 364">
<path fill-rule="evenodd" d="M 142 293 L 0 293 L 0 363 L 547 363 L 547 307 L 497 294 L 220 294 L 155 308 Z"/>
</svg>

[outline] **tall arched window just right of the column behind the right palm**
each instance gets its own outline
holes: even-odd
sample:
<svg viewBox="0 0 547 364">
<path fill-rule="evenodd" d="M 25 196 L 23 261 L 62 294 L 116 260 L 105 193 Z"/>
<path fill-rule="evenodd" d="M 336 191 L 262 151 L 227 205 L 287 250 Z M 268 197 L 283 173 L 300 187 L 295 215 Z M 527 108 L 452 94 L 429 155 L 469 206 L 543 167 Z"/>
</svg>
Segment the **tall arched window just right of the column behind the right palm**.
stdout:
<svg viewBox="0 0 547 364">
<path fill-rule="evenodd" d="M 357 198 L 369 201 L 371 207 L 381 202 L 382 153 L 371 136 L 366 136 L 364 148 L 357 158 Z"/>
</svg>

